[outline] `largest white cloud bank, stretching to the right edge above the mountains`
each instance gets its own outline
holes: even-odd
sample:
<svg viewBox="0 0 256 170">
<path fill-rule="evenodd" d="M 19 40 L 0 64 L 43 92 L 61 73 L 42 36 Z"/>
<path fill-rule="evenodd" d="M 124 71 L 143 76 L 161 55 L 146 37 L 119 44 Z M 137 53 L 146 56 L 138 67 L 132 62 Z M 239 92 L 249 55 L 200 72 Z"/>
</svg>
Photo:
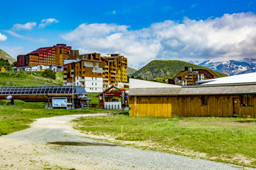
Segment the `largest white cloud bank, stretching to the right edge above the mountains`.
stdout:
<svg viewBox="0 0 256 170">
<path fill-rule="evenodd" d="M 141 30 L 128 28 L 83 23 L 61 37 L 84 52 L 122 52 L 135 68 L 151 60 L 256 59 L 255 13 L 225 14 L 206 21 L 184 18 L 183 23 L 164 21 Z"/>
</svg>

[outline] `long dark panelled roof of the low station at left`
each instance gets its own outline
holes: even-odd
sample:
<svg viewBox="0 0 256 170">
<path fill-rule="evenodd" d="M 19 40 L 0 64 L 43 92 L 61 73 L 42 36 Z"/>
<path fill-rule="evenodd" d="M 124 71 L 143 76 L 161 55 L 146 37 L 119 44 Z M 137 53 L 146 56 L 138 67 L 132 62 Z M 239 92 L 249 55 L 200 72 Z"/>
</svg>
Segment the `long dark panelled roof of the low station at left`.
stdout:
<svg viewBox="0 0 256 170">
<path fill-rule="evenodd" d="M 87 94 L 82 86 L 1 87 L 0 95 Z"/>
</svg>

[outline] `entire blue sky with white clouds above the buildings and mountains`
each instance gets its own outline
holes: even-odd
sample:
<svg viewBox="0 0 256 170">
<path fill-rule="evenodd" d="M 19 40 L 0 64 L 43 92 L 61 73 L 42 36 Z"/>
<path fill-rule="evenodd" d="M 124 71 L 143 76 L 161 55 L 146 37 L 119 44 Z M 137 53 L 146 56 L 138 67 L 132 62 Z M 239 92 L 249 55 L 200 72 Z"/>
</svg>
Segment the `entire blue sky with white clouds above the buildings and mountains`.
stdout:
<svg viewBox="0 0 256 170">
<path fill-rule="evenodd" d="M 0 49 L 12 57 L 65 43 L 80 54 L 151 60 L 256 59 L 256 1 L 0 1 Z"/>
</svg>

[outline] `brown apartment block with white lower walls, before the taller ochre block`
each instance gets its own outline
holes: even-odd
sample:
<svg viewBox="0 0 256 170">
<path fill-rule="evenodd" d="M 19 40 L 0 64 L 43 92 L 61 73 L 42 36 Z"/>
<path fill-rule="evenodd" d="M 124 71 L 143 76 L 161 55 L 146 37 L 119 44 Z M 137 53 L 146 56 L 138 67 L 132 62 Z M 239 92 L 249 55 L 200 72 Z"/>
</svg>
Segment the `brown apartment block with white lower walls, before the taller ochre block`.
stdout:
<svg viewBox="0 0 256 170">
<path fill-rule="evenodd" d="M 102 92 L 104 66 L 105 62 L 96 60 L 65 60 L 63 86 L 83 86 L 87 92 Z"/>
</svg>

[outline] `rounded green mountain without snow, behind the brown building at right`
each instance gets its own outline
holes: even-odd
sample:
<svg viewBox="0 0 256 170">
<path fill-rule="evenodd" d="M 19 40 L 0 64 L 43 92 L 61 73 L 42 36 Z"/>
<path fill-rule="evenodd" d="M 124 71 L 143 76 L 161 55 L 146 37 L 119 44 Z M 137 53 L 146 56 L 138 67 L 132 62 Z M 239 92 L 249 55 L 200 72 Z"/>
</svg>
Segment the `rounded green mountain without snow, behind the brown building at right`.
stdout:
<svg viewBox="0 0 256 170">
<path fill-rule="evenodd" d="M 208 69 L 206 67 L 178 60 L 154 60 L 149 62 L 149 64 L 146 64 L 146 66 L 142 67 L 142 69 L 139 69 L 132 75 L 134 77 L 142 77 L 142 79 L 170 77 L 184 70 L 184 67 L 193 67 L 193 69 Z M 214 70 L 212 71 L 215 72 L 215 74 L 217 74 L 219 77 L 227 76 L 223 73 L 216 72 Z"/>
</svg>

